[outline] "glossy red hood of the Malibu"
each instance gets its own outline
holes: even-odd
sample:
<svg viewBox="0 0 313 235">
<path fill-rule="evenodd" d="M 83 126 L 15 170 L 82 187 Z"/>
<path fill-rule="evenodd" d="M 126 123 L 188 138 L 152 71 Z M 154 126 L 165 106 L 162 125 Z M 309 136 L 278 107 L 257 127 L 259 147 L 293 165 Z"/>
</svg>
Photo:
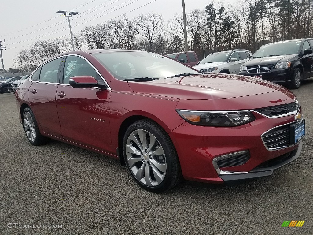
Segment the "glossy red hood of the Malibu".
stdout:
<svg viewBox="0 0 313 235">
<path fill-rule="evenodd" d="M 136 93 L 189 100 L 243 97 L 281 89 L 271 82 L 233 74 L 199 74 L 128 84 Z"/>
</svg>

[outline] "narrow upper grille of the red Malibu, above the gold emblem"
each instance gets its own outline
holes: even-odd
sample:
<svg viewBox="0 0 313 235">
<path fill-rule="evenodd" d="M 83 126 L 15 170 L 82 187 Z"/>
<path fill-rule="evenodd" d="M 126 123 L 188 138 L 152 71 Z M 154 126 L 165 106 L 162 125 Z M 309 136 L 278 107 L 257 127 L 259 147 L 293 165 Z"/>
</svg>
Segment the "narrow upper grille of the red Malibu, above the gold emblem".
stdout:
<svg viewBox="0 0 313 235">
<path fill-rule="evenodd" d="M 275 116 L 284 115 L 290 112 L 299 112 L 300 105 L 299 104 L 297 105 L 296 102 L 292 102 L 289 104 L 254 109 L 254 111 L 262 113 L 263 115 L 268 116 L 268 117 L 275 117 Z"/>
</svg>

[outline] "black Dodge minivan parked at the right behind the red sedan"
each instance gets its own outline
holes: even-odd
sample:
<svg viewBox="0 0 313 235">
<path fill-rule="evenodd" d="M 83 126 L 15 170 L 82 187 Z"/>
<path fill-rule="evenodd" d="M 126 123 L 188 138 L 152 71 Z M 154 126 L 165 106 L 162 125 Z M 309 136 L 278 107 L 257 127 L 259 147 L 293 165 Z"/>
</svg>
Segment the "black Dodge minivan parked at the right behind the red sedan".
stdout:
<svg viewBox="0 0 313 235">
<path fill-rule="evenodd" d="M 251 76 L 298 89 L 313 77 L 313 39 L 295 39 L 261 46 L 241 65 L 239 75 Z"/>
</svg>

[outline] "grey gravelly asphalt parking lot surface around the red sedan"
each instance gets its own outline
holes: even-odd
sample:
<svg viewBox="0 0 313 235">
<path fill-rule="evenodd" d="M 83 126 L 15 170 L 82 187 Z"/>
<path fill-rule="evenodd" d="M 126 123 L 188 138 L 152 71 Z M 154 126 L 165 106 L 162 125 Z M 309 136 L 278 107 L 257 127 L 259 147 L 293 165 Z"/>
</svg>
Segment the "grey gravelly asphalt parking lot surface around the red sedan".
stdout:
<svg viewBox="0 0 313 235">
<path fill-rule="evenodd" d="M 141 189 L 115 159 L 54 140 L 32 146 L 14 94 L 0 94 L 0 234 L 312 234 L 312 90 L 310 79 L 293 91 L 306 118 L 299 159 L 267 178 L 164 194 Z"/>
</svg>

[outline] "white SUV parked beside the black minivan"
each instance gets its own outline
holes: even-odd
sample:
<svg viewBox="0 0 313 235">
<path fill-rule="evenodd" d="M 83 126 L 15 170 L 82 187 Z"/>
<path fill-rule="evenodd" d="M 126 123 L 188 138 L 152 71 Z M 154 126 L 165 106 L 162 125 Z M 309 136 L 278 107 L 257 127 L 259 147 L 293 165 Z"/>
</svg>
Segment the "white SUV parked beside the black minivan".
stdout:
<svg viewBox="0 0 313 235">
<path fill-rule="evenodd" d="M 240 66 L 252 56 L 248 50 L 228 50 L 208 55 L 193 68 L 201 72 L 239 74 Z"/>
</svg>

